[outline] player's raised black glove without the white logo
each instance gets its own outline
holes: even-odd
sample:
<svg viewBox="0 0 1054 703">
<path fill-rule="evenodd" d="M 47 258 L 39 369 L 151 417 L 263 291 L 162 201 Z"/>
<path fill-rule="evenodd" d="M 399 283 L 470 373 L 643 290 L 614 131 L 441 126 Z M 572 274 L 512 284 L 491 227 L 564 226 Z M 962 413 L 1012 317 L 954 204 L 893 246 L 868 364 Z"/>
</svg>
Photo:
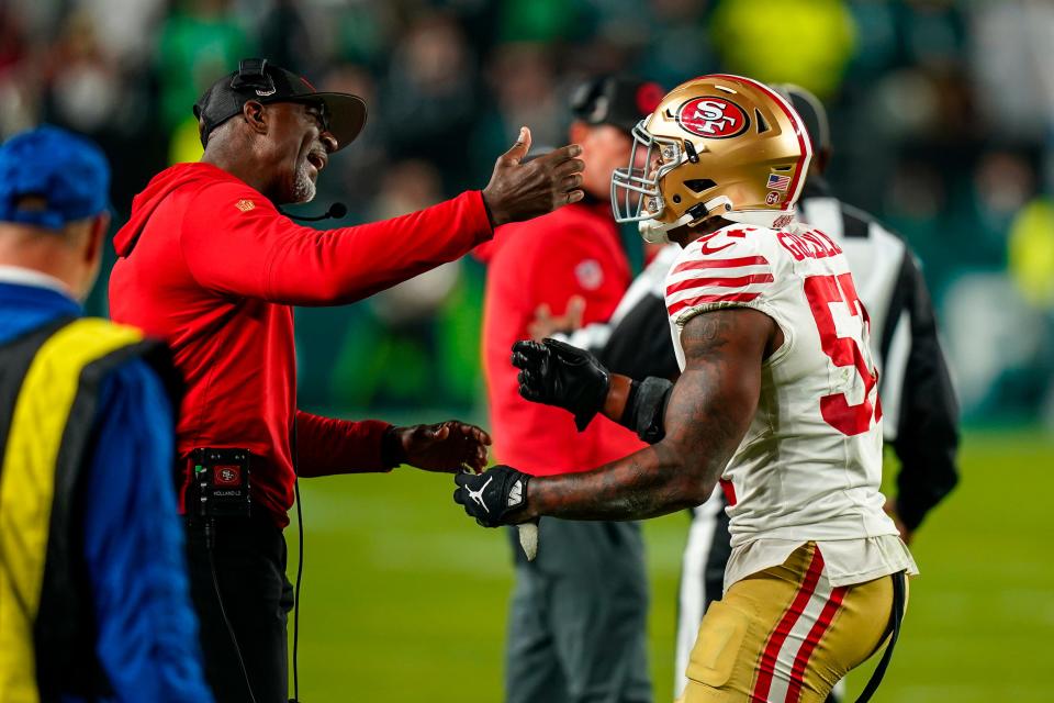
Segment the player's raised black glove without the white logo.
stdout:
<svg viewBox="0 0 1054 703">
<path fill-rule="evenodd" d="M 517 342 L 513 366 L 519 371 L 519 394 L 529 401 L 574 413 L 579 432 L 604 408 L 610 376 L 596 357 L 556 339 Z"/>
</svg>

